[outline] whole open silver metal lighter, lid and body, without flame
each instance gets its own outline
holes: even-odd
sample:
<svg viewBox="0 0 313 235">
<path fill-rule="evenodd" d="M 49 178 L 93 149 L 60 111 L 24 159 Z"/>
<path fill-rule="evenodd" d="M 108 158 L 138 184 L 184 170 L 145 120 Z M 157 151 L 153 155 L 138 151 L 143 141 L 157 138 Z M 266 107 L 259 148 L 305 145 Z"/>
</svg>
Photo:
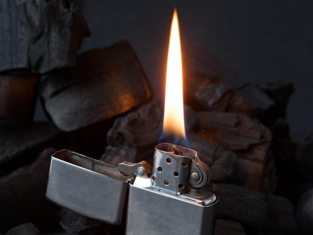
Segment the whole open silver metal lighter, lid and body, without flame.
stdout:
<svg viewBox="0 0 313 235">
<path fill-rule="evenodd" d="M 218 198 L 201 187 L 209 167 L 196 151 L 155 146 L 145 161 L 113 166 L 69 151 L 52 154 L 48 200 L 107 223 L 126 222 L 125 234 L 213 234 Z"/>
</svg>

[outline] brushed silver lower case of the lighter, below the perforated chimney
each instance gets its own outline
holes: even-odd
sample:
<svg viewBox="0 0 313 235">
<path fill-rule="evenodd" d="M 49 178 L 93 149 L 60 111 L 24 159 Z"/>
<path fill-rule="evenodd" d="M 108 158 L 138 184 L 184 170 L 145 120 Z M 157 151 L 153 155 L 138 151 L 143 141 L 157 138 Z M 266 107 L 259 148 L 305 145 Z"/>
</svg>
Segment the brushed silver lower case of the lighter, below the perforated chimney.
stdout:
<svg viewBox="0 0 313 235">
<path fill-rule="evenodd" d="M 129 185 L 127 235 L 214 234 L 218 199 L 213 193 L 170 194 L 154 186 L 138 186 L 138 178 Z"/>
</svg>

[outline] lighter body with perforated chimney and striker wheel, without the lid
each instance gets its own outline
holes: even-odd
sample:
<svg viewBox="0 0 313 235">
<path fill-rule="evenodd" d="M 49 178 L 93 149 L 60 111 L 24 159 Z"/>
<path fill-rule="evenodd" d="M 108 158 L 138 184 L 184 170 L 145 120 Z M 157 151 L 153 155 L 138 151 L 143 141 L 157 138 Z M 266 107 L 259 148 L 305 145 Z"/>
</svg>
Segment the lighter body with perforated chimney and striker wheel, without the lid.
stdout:
<svg viewBox="0 0 313 235">
<path fill-rule="evenodd" d="M 196 151 L 155 146 L 152 177 L 137 174 L 129 185 L 126 234 L 213 234 L 218 199 L 200 188 L 209 174 Z"/>
</svg>

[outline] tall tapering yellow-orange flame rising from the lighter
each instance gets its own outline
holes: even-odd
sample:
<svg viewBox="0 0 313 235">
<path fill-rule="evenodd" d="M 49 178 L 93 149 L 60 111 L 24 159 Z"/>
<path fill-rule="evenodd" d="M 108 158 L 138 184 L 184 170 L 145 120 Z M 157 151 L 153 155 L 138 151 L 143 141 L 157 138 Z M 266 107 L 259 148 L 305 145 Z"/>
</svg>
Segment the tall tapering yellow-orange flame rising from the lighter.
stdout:
<svg viewBox="0 0 313 235">
<path fill-rule="evenodd" d="M 176 9 L 174 9 L 169 37 L 162 130 L 162 138 L 168 136 L 171 136 L 171 139 L 186 141 L 182 98 L 181 50 Z"/>
</svg>

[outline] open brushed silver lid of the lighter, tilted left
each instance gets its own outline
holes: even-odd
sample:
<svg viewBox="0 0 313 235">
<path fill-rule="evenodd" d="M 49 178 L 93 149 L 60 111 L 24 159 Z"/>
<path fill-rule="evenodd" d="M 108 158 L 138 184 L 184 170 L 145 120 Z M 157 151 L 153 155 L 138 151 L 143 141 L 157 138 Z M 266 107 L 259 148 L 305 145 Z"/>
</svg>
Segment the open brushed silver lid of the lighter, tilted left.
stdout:
<svg viewBox="0 0 313 235">
<path fill-rule="evenodd" d="M 60 150 L 51 156 L 46 197 L 74 212 L 118 224 L 125 219 L 128 178 L 113 165 Z"/>
</svg>

